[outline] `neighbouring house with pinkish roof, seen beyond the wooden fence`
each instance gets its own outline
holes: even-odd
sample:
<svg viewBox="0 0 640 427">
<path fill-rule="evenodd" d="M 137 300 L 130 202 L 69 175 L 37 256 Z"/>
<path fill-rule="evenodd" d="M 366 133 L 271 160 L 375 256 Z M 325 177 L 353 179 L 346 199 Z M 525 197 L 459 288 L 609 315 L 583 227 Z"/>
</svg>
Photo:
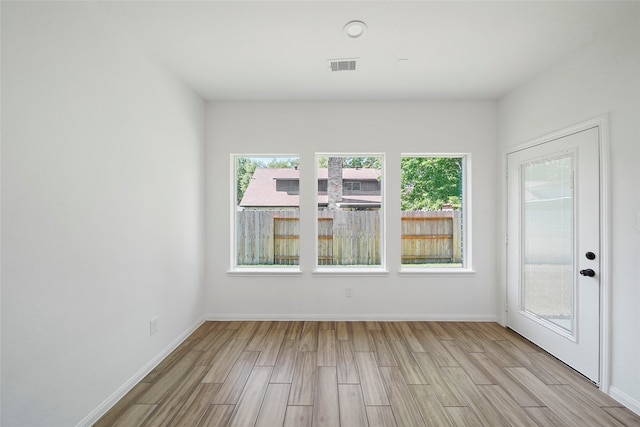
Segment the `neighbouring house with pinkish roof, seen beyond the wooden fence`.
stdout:
<svg viewBox="0 0 640 427">
<path fill-rule="evenodd" d="M 378 169 L 342 170 L 341 209 L 378 209 L 381 203 Z M 239 209 L 296 209 L 300 206 L 298 169 L 256 169 Z M 318 207 L 327 206 L 327 168 L 318 169 Z"/>
</svg>

